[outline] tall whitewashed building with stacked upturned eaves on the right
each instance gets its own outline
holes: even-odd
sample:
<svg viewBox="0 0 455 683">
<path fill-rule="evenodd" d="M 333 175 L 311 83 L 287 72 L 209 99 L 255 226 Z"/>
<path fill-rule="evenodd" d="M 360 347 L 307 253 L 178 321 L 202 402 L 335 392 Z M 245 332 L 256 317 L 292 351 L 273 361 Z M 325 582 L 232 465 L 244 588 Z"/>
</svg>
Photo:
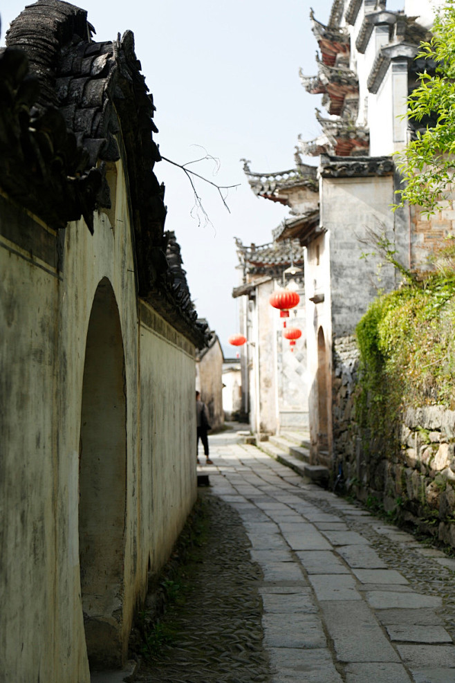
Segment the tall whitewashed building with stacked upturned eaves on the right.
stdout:
<svg viewBox="0 0 455 683">
<path fill-rule="evenodd" d="M 290 208 L 275 242 L 297 239 L 304 247 L 311 457 L 332 471 L 337 459 L 359 455 L 349 434 L 355 325 L 378 291 L 400 282 L 379 256 L 362 258 L 375 251 L 372 233 L 388 239 L 407 268 L 416 268 L 452 230 L 452 207 L 431 221 L 414 208 L 391 211 L 400 188 L 393 154 L 416 127 L 405 116 L 407 95 L 417 73 L 434 68 L 415 57 L 440 4 L 409 0 L 391 11 L 382 0 L 334 0 L 326 24 L 311 12 L 317 75 L 300 76 L 308 93 L 322 95 L 326 113 L 316 110 L 322 132 L 315 140 L 299 139 L 294 169 L 257 173 L 245 163 L 253 192 Z M 308 191 L 312 173 L 317 192 Z"/>
</svg>

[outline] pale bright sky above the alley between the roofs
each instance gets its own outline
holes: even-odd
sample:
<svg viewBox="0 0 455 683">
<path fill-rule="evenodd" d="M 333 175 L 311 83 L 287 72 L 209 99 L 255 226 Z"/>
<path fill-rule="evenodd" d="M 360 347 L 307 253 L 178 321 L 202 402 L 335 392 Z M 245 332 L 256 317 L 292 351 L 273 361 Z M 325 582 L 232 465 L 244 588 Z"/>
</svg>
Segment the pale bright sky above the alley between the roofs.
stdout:
<svg viewBox="0 0 455 683">
<path fill-rule="evenodd" d="M 314 0 L 313 0 L 314 2 Z M 196 179 L 210 222 L 194 211 L 185 173 L 160 161 L 155 173 L 166 186 L 165 229 L 174 230 L 198 316 L 216 331 L 225 357 L 234 357 L 228 337 L 239 331 L 240 282 L 234 237 L 244 244 L 272 241 L 272 229 L 288 210 L 255 197 L 241 158 L 254 172 L 294 167 L 297 136 L 319 134 L 319 95 L 301 86 L 299 67 L 316 73 L 317 43 L 310 30 L 311 0 L 80 0 L 96 30 L 95 40 L 133 31 L 136 55 L 154 95 L 154 140 L 175 163 L 210 155 L 219 159 L 189 168 L 228 190 L 223 206 L 216 188 Z M 319 0 L 315 16 L 326 24 L 332 0 Z M 389 3 L 388 3 L 389 4 Z M 0 4 L 1 44 L 25 0 Z M 309 163 L 315 160 L 306 159 Z M 215 173 L 215 174 L 214 174 Z"/>
</svg>

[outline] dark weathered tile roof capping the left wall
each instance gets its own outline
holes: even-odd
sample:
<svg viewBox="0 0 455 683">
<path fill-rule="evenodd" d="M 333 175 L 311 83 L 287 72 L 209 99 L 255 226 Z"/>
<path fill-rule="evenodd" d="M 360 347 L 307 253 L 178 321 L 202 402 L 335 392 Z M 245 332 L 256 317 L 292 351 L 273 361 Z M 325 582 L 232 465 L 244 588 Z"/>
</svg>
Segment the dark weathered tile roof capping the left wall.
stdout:
<svg viewBox="0 0 455 683">
<path fill-rule="evenodd" d="M 12 124 L 0 152 L 15 176 L 0 167 L 0 183 L 50 226 L 64 227 L 83 215 L 93 231 L 95 209 L 111 206 L 103 162 L 122 157 L 138 295 L 204 345 L 189 293 L 166 258 L 165 188 L 154 174 L 161 158 L 152 136 L 158 131 L 155 107 L 133 33 L 108 42 L 94 42 L 92 33 L 86 11 L 62 0 L 37 0 L 12 21 L 0 53 L 6 65 L 0 80 L 11 94 L 0 109 L 8 110 Z"/>
</svg>

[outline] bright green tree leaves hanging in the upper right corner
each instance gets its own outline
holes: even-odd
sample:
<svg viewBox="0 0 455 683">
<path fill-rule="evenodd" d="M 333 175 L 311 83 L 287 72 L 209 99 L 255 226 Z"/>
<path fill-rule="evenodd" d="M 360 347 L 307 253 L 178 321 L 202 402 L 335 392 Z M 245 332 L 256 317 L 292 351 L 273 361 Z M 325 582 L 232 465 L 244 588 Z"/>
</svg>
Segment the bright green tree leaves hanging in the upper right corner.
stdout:
<svg viewBox="0 0 455 683">
<path fill-rule="evenodd" d="M 398 155 L 405 188 L 400 202 L 420 204 L 429 214 L 447 194 L 455 165 L 455 0 L 447 0 L 434 22 L 433 37 L 420 44 L 417 57 L 432 60 L 436 73 L 420 74 L 420 84 L 409 95 L 407 116 L 418 122 L 434 116 L 434 127 L 417 133 Z"/>
</svg>

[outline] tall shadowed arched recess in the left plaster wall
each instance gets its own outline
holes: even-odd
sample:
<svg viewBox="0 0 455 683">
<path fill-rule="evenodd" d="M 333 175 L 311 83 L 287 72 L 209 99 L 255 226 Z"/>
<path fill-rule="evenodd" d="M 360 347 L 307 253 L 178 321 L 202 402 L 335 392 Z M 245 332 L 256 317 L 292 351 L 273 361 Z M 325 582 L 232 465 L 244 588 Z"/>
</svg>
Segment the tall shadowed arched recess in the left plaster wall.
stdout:
<svg viewBox="0 0 455 683">
<path fill-rule="evenodd" d="M 127 491 L 127 397 L 117 302 L 109 280 L 95 292 L 87 331 L 80 429 L 79 554 L 91 668 L 122 665 Z"/>
</svg>

